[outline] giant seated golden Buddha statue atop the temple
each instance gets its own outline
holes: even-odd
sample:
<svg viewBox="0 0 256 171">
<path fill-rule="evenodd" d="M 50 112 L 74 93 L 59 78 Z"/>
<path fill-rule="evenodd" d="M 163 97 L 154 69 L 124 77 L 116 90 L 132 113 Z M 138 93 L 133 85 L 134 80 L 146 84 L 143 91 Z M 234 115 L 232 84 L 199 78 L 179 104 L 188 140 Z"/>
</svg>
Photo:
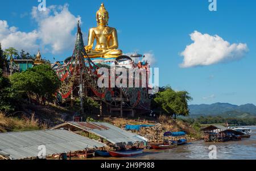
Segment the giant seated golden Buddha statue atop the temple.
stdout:
<svg viewBox="0 0 256 171">
<path fill-rule="evenodd" d="M 116 58 L 122 55 L 122 51 L 118 48 L 117 30 L 108 27 L 109 12 L 101 4 L 100 10 L 96 13 L 97 27 L 90 28 L 88 34 L 88 45 L 85 51 L 90 58 L 103 57 Z M 93 48 L 94 39 L 96 39 L 96 47 Z"/>
</svg>

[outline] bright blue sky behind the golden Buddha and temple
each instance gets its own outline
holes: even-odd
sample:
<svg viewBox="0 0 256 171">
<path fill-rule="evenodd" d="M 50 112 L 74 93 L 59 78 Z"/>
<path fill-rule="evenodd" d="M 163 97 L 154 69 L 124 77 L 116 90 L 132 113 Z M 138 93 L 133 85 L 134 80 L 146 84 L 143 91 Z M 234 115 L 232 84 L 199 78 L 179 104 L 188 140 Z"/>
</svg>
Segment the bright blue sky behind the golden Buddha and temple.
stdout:
<svg viewBox="0 0 256 171">
<path fill-rule="evenodd" d="M 175 90 L 189 91 L 193 97 L 191 104 L 228 102 L 235 105 L 256 105 L 256 1 L 217 0 L 217 11 L 209 11 L 208 0 L 46 2 L 47 7 L 61 5 L 62 8 L 55 7 L 59 14 L 65 8 L 63 15 L 67 14 L 67 22 L 70 21 L 67 27 L 59 26 L 57 22 L 52 23 L 54 19 L 61 19 L 54 18 L 54 10 L 46 16 L 42 12 L 32 15 L 32 7 L 39 4 L 37 0 L 1 1 L 0 21 L 6 21 L 8 25 L 4 26 L 7 31 L 2 32 L 16 35 L 12 42 L 9 42 L 10 39 L 3 42 L 22 47 L 30 53 L 36 53 L 40 48 L 46 59 L 53 61 L 55 57 L 56 60 L 63 60 L 72 55 L 76 19 L 79 16 L 81 18 L 86 44 L 89 28 L 96 26 L 96 11 L 101 2 L 104 2 L 110 15 L 109 26 L 118 30 L 119 49 L 125 53 L 137 50 L 154 57 L 156 62 L 152 66 L 159 68 L 160 86 L 169 84 Z M 43 38 L 47 35 L 46 30 L 53 30 L 47 39 Z M 200 37 L 206 34 L 210 37 L 218 35 L 230 45 L 241 43 L 246 45 L 247 50 L 236 47 L 230 52 L 239 53 L 233 56 L 234 59 L 226 55 L 224 61 L 209 62 L 204 66 L 199 62 L 181 68 L 184 56 L 180 53 L 185 51 L 187 45 L 193 44 L 189 35 L 194 31 L 200 32 Z M 27 45 L 19 40 L 24 40 Z M 200 57 L 200 51 L 205 49 L 205 44 L 203 43 L 202 49 L 201 45 L 198 42 L 196 49 L 191 47 L 197 54 L 194 57 Z M 242 55 L 240 52 L 243 52 Z M 205 59 L 204 53 L 202 58 Z"/>
</svg>

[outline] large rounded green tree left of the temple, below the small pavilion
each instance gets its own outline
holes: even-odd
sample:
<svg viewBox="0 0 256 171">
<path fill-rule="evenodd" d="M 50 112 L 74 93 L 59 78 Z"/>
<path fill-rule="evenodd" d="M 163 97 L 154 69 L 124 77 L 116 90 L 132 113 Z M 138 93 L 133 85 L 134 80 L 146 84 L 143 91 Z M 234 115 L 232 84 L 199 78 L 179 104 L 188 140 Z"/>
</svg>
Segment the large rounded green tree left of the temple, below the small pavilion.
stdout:
<svg viewBox="0 0 256 171">
<path fill-rule="evenodd" d="M 49 65 L 36 65 L 22 73 L 15 73 L 11 76 L 11 83 L 14 89 L 21 94 L 26 93 L 28 98 L 31 95 L 53 98 L 53 94 L 60 86 L 59 78 Z"/>
</svg>

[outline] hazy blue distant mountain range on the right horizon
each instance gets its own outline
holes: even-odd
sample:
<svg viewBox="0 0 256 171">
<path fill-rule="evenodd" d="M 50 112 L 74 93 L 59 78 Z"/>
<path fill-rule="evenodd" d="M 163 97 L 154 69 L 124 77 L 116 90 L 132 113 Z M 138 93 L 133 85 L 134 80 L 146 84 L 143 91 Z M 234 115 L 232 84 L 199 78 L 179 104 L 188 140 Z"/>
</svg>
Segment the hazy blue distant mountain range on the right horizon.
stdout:
<svg viewBox="0 0 256 171">
<path fill-rule="evenodd" d="M 256 106 L 253 104 L 232 105 L 229 103 L 213 103 L 212 105 L 189 105 L 191 115 L 221 115 L 246 118 L 256 116 Z"/>
</svg>

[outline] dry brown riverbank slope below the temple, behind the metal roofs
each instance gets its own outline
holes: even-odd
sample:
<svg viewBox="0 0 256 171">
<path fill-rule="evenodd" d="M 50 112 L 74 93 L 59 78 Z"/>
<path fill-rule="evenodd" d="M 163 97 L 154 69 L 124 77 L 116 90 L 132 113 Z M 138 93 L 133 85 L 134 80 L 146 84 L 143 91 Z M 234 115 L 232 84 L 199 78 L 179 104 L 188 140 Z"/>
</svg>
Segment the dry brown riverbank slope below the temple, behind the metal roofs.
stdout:
<svg viewBox="0 0 256 171">
<path fill-rule="evenodd" d="M 56 124 L 63 123 L 65 120 L 72 120 L 72 116 L 75 113 L 72 110 L 55 105 L 40 106 L 24 104 L 23 107 L 24 112 L 22 113 L 16 113 L 11 116 L 1 114 L 0 132 L 44 130 Z M 138 135 L 146 137 L 150 143 L 162 141 L 163 134 L 167 131 L 184 131 L 187 133 L 184 138 L 188 141 L 200 140 L 203 137 L 200 131 L 200 125 L 189 124 L 181 119 L 175 120 L 166 115 L 160 115 L 158 118 L 143 116 L 142 118 L 116 118 L 92 115 L 86 120 L 108 122 L 123 129 L 126 124 L 153 124 L 154 127 L 142 127 L 139 131 L 133 131 Z"/>
</svg>

